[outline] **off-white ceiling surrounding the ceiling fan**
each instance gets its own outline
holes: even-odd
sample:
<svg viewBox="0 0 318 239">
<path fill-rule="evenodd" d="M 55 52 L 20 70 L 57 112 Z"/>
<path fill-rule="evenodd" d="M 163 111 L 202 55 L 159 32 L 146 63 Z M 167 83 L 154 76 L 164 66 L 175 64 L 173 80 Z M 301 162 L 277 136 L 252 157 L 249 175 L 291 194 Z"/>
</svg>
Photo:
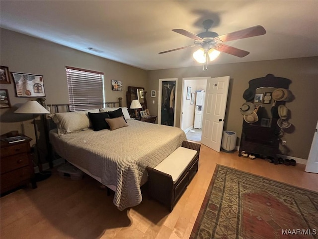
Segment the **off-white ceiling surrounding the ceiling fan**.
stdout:
<svg viewBox="0 0 318 239">
<path fill-rule="evenodd" d="M 318 1 L 117 0 L 0 1 L 0 26 L 145 70 L 200 66 L 198 48 L 165 54 L 194 40 L 171 31 L 211 31 L 219 35 L 254 25 L 267 33 L 227 42 L 249 51 L 239 58 L 221 53 L 210 64 L 318 56 Z M 93 47 L 104 53 L 95 53 Z"/>
</svg>

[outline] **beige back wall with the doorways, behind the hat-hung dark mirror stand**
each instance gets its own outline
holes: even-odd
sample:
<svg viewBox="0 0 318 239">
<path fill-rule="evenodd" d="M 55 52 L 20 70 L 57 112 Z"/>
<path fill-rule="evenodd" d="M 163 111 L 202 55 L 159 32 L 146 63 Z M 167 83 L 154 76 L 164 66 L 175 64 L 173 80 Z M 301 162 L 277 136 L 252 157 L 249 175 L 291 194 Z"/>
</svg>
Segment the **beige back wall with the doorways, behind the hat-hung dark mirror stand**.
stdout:
<svg viewBox="0 0 318 239">
<path fill-rule="evenodd" d="M 293 102 L 286 103 L 291 111 L 290 122 L 294 130 L 285 130 L 283 139 L 287 141 L 287 148 L 282 148 L 282 154 L 307 159 L 318 120 L 318 57 L 209 65 L 205 71 L 202 71 L 202 66 L 153 70 L 148 71 L 147 88 L 158 90 L 158 79 L 178 78 L 176 126 L 179 126 L 182 78 L 230 76 L 224 129 L 237 132 L 240 139 L 243 119 L 239 108 L 244 103 L 242 94 L 248 88 L 249 80 L 265 77 L 269 73 L 290 79 L 290 90 L 295 96 Z M 150 104 L 149 109 L 157 112 L 158 104 Z"/>
</svg>

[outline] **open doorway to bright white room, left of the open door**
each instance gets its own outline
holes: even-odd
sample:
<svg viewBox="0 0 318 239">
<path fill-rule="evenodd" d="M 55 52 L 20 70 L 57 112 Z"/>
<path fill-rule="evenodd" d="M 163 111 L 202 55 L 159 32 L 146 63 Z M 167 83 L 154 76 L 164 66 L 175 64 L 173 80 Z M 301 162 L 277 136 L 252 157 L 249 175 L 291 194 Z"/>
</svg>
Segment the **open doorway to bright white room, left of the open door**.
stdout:
<svg viewBox="0 0 318 239">
<path fill-rule="evenodd" d="M 187 139 L 201 141 L 202 126 L 200 126 L 200 113 L 203 112 L 203 102 L 197 106 L 198 92 L 205 92 L 207 79 L 210 77 L 191 77 L 182 79 L 182 101 L 180 128 L 186 133 Z M 190 93 L 190 95 L 189 95 Z"/>
</svg>

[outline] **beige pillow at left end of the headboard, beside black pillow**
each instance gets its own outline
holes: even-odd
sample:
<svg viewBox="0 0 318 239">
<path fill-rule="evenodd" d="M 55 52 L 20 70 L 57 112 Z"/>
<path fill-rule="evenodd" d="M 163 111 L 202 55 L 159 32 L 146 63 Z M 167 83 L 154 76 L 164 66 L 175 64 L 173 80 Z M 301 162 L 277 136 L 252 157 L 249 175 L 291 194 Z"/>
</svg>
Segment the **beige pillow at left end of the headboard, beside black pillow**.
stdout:
<svg viewBox="0 0 318 239">
<path fill-rule="evenodd" d="M 99 109 L 55 113 L 53 115 L 50 115 L 50 117 L 56 123 L 59 135 L 63 135 L 65 133 L 78 132 L 80 130 L 92 127 L 92 124 L 88 117 L 88 112 L 98 113 Z"/>
</svg>

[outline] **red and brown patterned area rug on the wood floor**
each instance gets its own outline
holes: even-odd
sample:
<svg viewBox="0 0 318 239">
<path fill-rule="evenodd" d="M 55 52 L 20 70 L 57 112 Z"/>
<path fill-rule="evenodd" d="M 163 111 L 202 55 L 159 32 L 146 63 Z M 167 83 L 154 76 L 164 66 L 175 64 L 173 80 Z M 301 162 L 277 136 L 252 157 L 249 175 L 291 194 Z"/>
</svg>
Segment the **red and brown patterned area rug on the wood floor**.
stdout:
<svg viewBox="0 0 318 239">
<path fill-rule="evenodd" d="M 217 165 L 190 239 L 288 238 L 318 238 L 318 193 Z"/>
</svg>

